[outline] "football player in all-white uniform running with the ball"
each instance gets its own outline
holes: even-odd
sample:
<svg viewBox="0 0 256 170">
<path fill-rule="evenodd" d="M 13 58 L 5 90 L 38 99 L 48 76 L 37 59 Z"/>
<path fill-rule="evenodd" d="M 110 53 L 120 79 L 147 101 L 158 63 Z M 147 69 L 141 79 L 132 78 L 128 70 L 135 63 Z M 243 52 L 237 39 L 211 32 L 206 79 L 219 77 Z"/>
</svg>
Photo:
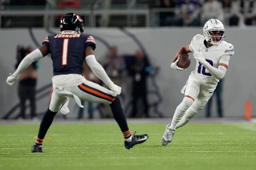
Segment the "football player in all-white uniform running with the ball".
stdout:
<svg viewBox="0 0 256 170">
<path fill-rule="evenodd" d="M 208 20 L 203 28 L 204 35 L 197 34 L 189 45 L 183 46 L 176 54 L 171 68 L 183 70 L 177 66 L 178 56 L 193 52 L 197 63 L 195 70 L 189 75 L 181 93 L 185 93 L 183 101 L 177 106 L 172 123 L 166 127 L 162 145 L 172 142 L 175 129 L 185 125 L 206 105 L 218 82 L 227 71 L 228 63 L 234 54 L 234 46 L 226 41 L 225 27 L 217 19 Z"/>
</svg>

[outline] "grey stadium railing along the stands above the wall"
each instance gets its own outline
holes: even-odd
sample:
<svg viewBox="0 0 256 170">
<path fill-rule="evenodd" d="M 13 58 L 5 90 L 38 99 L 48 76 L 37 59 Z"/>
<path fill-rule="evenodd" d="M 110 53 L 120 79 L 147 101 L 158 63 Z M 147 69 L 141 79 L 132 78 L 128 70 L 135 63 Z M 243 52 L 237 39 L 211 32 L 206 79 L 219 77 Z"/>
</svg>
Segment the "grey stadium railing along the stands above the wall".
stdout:
<svg viewBox="0 0 256 170">
<path fill-rule="evenodd" d="M 159 13 L 160 12 L 174 12 L 175 8 L 149 8 L 147 5 L 141 6 L 111 6 L 111 8 L 103 8 L 102 6 L 81 6 L 77 8 L 65 8 L 58 9 L 56 6 L 0 6 L 0 28 L 8 27 L 4 26 L 3 20 L 8 17 L 41 17 L 41 25 L 43 27 L 56 26 L 57 16 L 74 12 L 81 15 L 84 18 L 85 26 L 87 27 L 108 27 L 110 22 L 115 22 L 115 19 L 119 17 L 119 23 L 112 24 L 113 26 L 140 26 L 151 27 L 159 26 Z M 228 25 L 228 17 L 230 16 L 229 10 L 225 10 L 225 21 Z M 111 20 L 111 16 L 117 16 Z M 103 24 L 97 24 L 98 18 L 105 20 Z M 140 20 L 139 20 L 140 19 Z M 142 22 L 143 20 L 143 22 Z M 17 20 L 16 20 L 17 21 Z M 12 26 L 13 27 L 13 26 Z M 17 24 L 17 27 L 18 24 Z"/>
</svg>

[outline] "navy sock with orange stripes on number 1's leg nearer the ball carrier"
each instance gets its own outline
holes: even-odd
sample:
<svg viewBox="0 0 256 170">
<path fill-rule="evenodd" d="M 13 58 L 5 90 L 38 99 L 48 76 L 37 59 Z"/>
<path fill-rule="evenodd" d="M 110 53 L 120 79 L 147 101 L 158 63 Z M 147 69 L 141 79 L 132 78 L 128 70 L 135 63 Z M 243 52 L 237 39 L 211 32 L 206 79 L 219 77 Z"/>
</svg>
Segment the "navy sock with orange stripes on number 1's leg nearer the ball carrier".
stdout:
<svg viewBox="0 0 256 170">
<path fill-rule="evenodd" d="M 116 96 L 115 100 L 110 104 L 112 113 L 113 113 L 113 117 L 116 120 L 117 124 L 119 125 L 120 129 L 122 130 L 123 133 L 127 133 L 128 131 L 130 132 L 127 122 L 126 122 L 126 118 L 125 118 L 125 114 L 124 111 L 122 109 L 122 105 L 120 102 L 120 99 L 118 96 Z M 129 135 L 129 136 L 128 136 Z M 130 137 L 131 133 L 128 133 L 125 135 L 125 138 Z"/>
</svg>

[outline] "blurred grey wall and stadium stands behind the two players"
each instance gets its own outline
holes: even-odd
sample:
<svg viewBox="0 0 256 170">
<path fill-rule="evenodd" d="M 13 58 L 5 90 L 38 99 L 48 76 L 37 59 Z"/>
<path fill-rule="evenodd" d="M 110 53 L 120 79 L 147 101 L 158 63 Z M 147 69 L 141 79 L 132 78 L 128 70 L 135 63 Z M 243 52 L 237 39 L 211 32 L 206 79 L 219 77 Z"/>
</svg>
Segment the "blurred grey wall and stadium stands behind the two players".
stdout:
<svg viewBox="0 0 256 170">
<path fill-rule="evenodd" d="M 224 78 L 224 116 L 243 118 L 245 102 L 250 101 L 251 113 L 255 117 L 256 57 L 253 48 L 256 3 L 254 0 L 213 0 L 215 4 L 209 8 L 209 3 L 212 3 L 210 1 L 212 0 L 1 0 L 0 117 L 13 119 L 19 114 L 18 83 L 14 87 L 5 83 L 9 73 L 15 70 L 17 45 L 37 48 L 46 35 L 59 32 L 59 17 L 68 12 L 77 13 L 83 18 L 84 34 L 95 37 L 96 57 L 101 63 L 112 46 L 117 47 L 118 54 L 124 58 L 135 54 L 137 49 L 141 49 L 148 57 L 153 68 L 148 77 L 150 117 L 173 115 L 183 98 L 180 90 L 189 73 L 194 70 L 195 61 L 192 59 L 190 67 L 181 72 L 172 71 L 170 63 L 181 46 L 189 44 L 195 34 L 203 34 L 205 20 L 215 16 L 226 26 L 225 40 L 235 46 L 235 55 Z M 216 10 L 216 6 L 220 8 Z M 52 61 L 48 56 L 40 60 L 38 69 L 38 114 L 43 113 L 49 104 L 51 77 Z M 131 110 L 131 78 L 125 71 L 121 86 L 122 103 L 128 114 Z M 75 118 L 79 108 L 73 102 L 69 107 L 71 114 L 67 116 Z M 212 108 L 216 108 L 215 101 Z M 100 117 L 98 110 L 94 114 L 95 117 Z M 212 116 L 216 115 L 213 110 Z M 197 117 L 204 116 L 205 110 L 202 110 Z"/>
</svg>

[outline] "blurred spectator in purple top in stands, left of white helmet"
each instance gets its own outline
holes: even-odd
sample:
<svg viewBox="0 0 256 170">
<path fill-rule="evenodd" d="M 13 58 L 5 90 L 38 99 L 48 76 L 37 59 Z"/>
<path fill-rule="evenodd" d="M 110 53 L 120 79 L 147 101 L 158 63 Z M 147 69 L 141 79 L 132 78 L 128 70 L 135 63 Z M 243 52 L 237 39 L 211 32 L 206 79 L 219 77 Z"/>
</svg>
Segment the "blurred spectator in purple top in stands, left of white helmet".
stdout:
<svg viewBox="0 0 256 170">
<path fill-rule="evenodd" d="M 198 0 L 179 0 L 177 3 L 178 16 L 184 26 L 200 26 L 201 3 Z"/>
</svg>

